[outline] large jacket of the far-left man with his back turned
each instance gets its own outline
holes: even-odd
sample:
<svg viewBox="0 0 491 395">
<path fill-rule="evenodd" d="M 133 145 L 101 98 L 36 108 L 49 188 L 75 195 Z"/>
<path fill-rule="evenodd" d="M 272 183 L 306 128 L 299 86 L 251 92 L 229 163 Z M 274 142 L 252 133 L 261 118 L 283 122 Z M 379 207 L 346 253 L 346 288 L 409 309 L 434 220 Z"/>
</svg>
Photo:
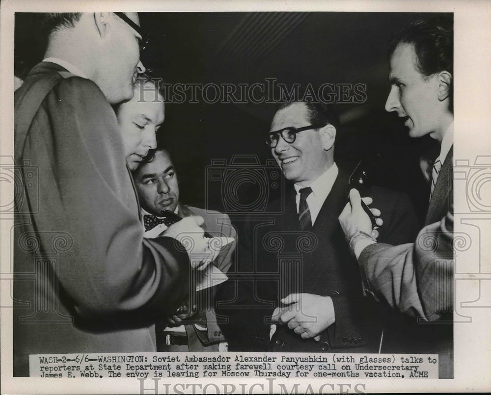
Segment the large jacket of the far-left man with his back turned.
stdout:
<svg viewBox="0 0 491 395">
<path fill-rule="evenodd" d="M 175 240 L 143 239 L 104 94 L 42 62 L 14 122 L 14 375 L 29 354 L 154 351 L 153 322 L 187 297 L 190 263 Z"/>
</svg>

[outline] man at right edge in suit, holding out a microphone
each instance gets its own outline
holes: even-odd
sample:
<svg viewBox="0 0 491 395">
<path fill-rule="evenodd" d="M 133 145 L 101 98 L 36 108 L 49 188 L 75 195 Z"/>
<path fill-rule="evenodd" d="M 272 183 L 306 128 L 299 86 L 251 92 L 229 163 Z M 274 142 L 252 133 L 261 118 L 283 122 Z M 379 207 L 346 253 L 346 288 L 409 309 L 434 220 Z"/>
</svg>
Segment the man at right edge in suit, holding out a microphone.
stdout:
<svg viewBox="0 0 491 395">
<path fill-rule="evenodd" d="M 413 332 L 418 334 L 414 342 L 421 344 L 420 352 L 437 352 L 440 378 L 450 378 L 454 270 L 452 21 L 409 24 L 392 41 L 389 57 L 391 90 L 385 109 L 403 118 L 409 136 L 429 134 L 440 143 L 425 226 L 414 243 L 375 243 L 364 236 L 371 225 L 356 191 L 350 192 L 350 204 L 339 220 L 360 265 L 366 290 L 392 308 L 417 317 L 417 322 L 432 321 L 413 325 Z"/>
</svg>

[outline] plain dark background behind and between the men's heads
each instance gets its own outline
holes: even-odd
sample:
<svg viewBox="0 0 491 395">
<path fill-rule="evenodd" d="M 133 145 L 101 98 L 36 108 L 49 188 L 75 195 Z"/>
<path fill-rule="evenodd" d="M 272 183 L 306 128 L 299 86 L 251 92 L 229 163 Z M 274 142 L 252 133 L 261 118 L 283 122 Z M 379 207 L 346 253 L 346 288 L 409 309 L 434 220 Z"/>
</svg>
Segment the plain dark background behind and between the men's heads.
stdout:
<svg viewBox="0 0 491 395">
<path fill-rule="evenodd" d="M 436 156 L 438 148 L 430 138 L 409 138 L 397 115 L 385 112 L 390 88 L 386 52 L 391 36 L 409 20 L 436 15 L 140 13 L 141 26 L 151 36 L 141 59 L 171 84 L 251 84 L 266 83 L 266 78 L 288 86 L 366 84 L 367 99 L 363 104 L 334 105 L 342 123 L 336 137 L 336 161 L 353 168 L 361 158 L 368 159 L 372 182 L 409 194 L 423 219 L 429 186 L 419 169 L 419 157 L 426 152 Z M 42 60 L 43 46 L 37 16 L 16 13 L 18 76 L 25 76 Z M 229 203 L 235 202 L 235 208 L 252 205 L 261 210 L 257 204 L 260 200 L 278 196 L 279 188 L 262 188 L 262 184 L 271 185 L 274 169 L 264 167 L 266 160 L 272 158 L 264 136 L 274 109 L 273 104 L 206 104 L 202 100 L 198 104 L 166 104 L 159 140 L 173 155 L 184 203 L 230 212 L 234 209 Z M 246 156 L 241 160 L 258 160 L 260 166 L 249 167 L 251 177 L 244 177 L 244 166 L 230 165 L 234 155 Z M 214 165 L 218 169 L 214 174 L 222 174 L 222 178 L 210 181 L 209 166 L 214 159 L 224 159 L 226 166 Z M 234 181 L 237 192 L 228 203 L 227 180 Z"/>
</svg>

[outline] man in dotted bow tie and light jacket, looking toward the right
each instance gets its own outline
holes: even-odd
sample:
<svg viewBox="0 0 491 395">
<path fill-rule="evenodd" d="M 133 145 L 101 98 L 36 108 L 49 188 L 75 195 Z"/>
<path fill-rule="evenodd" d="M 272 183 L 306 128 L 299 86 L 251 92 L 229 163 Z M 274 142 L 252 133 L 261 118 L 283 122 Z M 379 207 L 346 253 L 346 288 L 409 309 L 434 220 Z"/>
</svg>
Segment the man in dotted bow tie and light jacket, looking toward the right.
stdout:
<svg viewBox="0 0 491 395">
<path fill-rule="evenodd" d="M 122 106 L 119 116 L 125 116 L 131 102 Z M 130 116 L 130 118 L 132 118 Z M 231 237 L 235 239 L 235 229 L 227 214 L 186 206 L 179 201 L 179 182 L 176 169 L 169 153 L 157 149 L 149 154 L 133 172 L 136 191 L 141 203 L 144 237 L 153 238 L 166 228 L 166 218 L 162 211 L 170 211 L 181 218 L 199 215 L 203 217 L 203 228 L 210 236 Z M 235 241 L 221 248 L 213 261 L 221 273 L 226 273 L 233 262 Z M 208 269 L 212 269 L 210 265 Z M 220 273 L 209 273 L 217 279 Z M 218 277 L 219 279 L 219 277 Z M 221 280 L 226 279 L 221 276 Z M 212 298 L 216 287 L 196 292 L 196 304 L 200 306 L 190 319 L 174 317 L 157 324 L 158 351 L 218 351 L 224 338 L 218 328 L 217 318 L 212 308 Z M 180 325 L 182 324 L 182 325 Z"/>
</svg>

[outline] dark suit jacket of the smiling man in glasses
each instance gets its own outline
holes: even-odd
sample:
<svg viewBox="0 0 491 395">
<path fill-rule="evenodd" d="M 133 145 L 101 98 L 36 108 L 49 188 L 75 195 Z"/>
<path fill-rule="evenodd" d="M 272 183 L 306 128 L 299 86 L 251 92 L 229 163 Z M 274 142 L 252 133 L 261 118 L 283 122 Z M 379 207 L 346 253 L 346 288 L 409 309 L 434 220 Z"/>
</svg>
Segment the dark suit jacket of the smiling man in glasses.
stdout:
<svg viewBox="0 0 491 395">
<path fill-rule="evenodd" d="M 311 232 L 300 231 L 293 188 L 285 196 L 282 214 L 246 221 L 245 231 L 239 232 L 237 275 L 229 271 L 216 297 L 217 314 L 229 321 L 220 325 L 229 350 L 377 351 L 382 322 L 372 301 L 363 297 L 357 265 L 338 221 L 347 202 L 348 178 L 339 172 Z M 415 234 L 417 222 L 407 196 L 378 187 L 370 196 L 375 207 L 386 208 L 381 239 L 404 242 Z M 293 292 L 332 298 L 335 323 L 320 342 L 303 340 L 285 325 L 277 326 L 270 342 L 269 318 L 279 299 Z"/>
</svg>

